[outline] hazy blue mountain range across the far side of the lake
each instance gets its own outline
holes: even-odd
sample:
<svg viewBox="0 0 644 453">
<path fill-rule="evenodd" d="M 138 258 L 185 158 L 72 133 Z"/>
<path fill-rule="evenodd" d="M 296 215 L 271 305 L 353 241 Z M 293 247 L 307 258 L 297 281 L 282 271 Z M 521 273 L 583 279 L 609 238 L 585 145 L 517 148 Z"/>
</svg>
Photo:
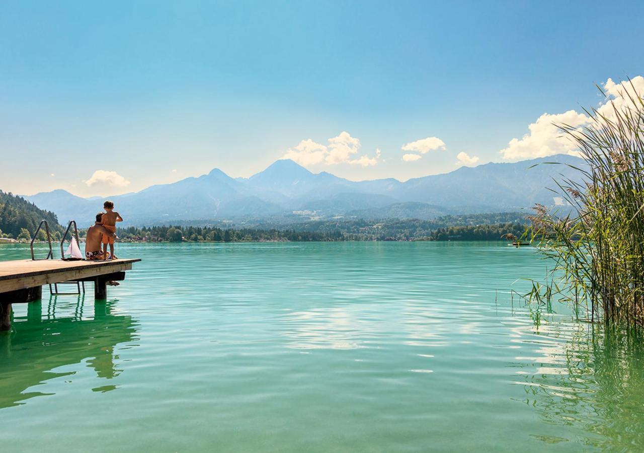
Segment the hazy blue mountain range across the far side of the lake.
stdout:
<svg viewBox="0 0 644 453">
<path fill-rule="evenodd" d="M 549 165 L 558 162 L 563 165 Z M 543 164 L 537 165 L 536 164 Z M 535 203 L 555 204 L 552 177 L 576 177 L 582 160 L 556 155 L 516 163 L 461 167 L 450 173 L 413 178 L 350 181 L 330 173 L 311 173 L 292 160 L 277 160 L 250 178 L 231 178 L 220 169 L 207 175 L 151 186 L 110 197 L 124 225 L 171 224 L 242 217 L 434 218 L 444 214 L 514 211 Z M 64 190 L 25 196 L 66 223 L 91 222 L 101 200 Z"/>
</svg>

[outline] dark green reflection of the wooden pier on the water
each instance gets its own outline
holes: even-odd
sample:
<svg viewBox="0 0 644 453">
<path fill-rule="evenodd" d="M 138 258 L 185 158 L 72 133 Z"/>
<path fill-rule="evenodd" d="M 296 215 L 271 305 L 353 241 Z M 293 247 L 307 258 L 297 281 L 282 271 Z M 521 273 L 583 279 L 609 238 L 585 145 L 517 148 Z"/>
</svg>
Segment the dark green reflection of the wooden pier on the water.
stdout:
<svg viewBox="0 0 644 453">
<path fill-rule="evenodd" d="M 46 381 L 75 374 L 56 371 L 65 365 L 86 361 L 105 380 L 122 372 L 115 347 L 136 339 L 137 323 L 131 316 L 112 313 L 117 302 L 86 307 L 84 297 L 50 296 L 27 304 L 26 315 L 14 315 L 12 333 L 0 335 L 0 408 L 48 394 Z"/>
</svg>

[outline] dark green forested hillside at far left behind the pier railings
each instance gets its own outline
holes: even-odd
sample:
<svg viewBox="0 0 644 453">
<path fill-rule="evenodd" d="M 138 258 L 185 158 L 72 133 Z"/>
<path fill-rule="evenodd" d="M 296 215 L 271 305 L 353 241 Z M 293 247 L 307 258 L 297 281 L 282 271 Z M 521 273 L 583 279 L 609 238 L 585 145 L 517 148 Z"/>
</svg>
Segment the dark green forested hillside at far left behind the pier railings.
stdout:
<svg viewBox="0 0 644 453">
<path fill-rule="evenodd" d="M 62 233 L 56 215 L 44 211 L 22 197 L 0 190 L 0 237 L 28 239 L 41 220 L 47 220 L 52 238 Z"/>
</svg>

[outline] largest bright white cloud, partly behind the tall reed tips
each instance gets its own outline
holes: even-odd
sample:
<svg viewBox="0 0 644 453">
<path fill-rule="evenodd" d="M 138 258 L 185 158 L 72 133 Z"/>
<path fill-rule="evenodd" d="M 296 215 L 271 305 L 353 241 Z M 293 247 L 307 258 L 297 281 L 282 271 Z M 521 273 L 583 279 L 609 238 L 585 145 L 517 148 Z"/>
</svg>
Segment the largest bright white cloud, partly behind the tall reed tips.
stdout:
<svg viewBox="0 0 644 453">
<path fill-rule="evenodd" d="M 644 93 L 644 77 L 638 75 L 631 79 L 632 84 L 640 95 Z M 615 83 L 608 79 L 603 85 L 603 91 L 607 99 L 602 101 L 597 110 L 601 115 L 611 118 L 614 108 L 620 110 L 630 102 L 625 96 L 625 90 L 632 91 L 629 81 Z M 567 124 L 578 130 L 587 126 L 591 119 L 575 110 L 568 110 L 564 113 L 544 113 L 536 122 L 528 126 L 529 133 L 520 139 L 510 140 L 507 148 L 501 149 L 500 153 L 505 160 L 535 159 L 553 154 L 578 155 L 575 144 L 560 131 L 555 124 Z"/>
</svg>

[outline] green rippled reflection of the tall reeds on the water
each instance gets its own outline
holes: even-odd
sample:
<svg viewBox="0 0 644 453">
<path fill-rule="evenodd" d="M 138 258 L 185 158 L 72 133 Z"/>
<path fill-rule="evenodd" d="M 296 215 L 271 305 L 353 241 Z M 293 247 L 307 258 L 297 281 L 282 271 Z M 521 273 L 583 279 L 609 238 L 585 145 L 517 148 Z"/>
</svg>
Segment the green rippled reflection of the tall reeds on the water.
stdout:
<svg viewBox="0 0 644 453">
<path fill-rule="evenodd" d="M 522 361 L 526 405 L 553 425 L 576 427 L 586 447 L 641 450 L 644 446 L 644 337 L 641 332 L 590 323 L 545 323 Z M 549 438 L 550 443 L 574 438 Z"/>
</svg>

